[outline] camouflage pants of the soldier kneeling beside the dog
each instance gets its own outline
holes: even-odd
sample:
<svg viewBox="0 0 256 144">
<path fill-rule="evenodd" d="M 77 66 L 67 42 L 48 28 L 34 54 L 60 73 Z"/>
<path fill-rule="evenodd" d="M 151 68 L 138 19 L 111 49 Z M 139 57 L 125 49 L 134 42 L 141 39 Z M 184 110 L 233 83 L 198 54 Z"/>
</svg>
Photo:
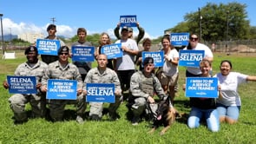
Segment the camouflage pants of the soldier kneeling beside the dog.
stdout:
<svg viewBox="0 0 256 144">
<path fill-rule="evenodd" d="M 153 113 L 155 115 L 155 111 L 157 109 L 156 103 L 150 103 L 148 105 L 148 101 L 145 97 L 135 98 L 135 103 L 132 105 L 132 111 L 135 117 L 139 117 L 144 110 L 146 110 L 147 114 Z"/>
</svg>

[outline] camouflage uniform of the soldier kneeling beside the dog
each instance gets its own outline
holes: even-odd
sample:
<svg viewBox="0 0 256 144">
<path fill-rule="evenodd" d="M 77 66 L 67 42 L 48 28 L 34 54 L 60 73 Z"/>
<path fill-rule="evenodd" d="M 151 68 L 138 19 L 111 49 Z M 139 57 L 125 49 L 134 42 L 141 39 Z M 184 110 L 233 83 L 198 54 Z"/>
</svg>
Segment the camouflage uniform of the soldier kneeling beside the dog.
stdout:
<svg viewBox="0 0 256 144">
<path fill-rule="evenodd" d="M 143 75 L 142 71 L 135 72 L 131 77 L 130 82 L 130 92 L 131 99 L 129 100 L 129 105 L 131 105 L 131 110 L 133 111 L 134 118 L 139 118 L 143 111 L 147 109 L 148 113 L 155 114 L 157 109 L 157 104 L 148 104 L 148 96 L 153 97 L 154 92 L 159 96 L 160 99 L 166 97 L 163 89 L 161 88 L 161 83 L 152 73 L 150 77 Z"/>
</svg>

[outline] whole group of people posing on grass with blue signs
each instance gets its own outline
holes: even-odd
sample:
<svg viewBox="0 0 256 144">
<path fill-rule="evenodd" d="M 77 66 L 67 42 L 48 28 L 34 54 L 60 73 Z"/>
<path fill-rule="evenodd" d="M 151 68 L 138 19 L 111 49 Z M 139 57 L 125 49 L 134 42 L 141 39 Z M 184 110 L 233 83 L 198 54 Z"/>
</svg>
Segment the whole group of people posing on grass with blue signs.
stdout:
<svg viewBox="0 0 256 144">
<path fill-rule="evenodd" d="M 151 40 L 144 38 L 143 49 L 140 51 L 138 43 L 144 35 L 144 29 L 139 26 L 140 34 L 135 41 L 130 33 L 133 29 L 121 28 L 120 23 L 115 29 L 118 40 L 121 43 L 123 56 L 116 59 L 108 59 L 108 56 L 101 54 L 103 45 L 111 44 L 107 33 L 102 33 L 99 47 L 95 50 L 97 67 L 92 69 L 90 62 L 69 62 L 72 57 L 70 49 L 56 37 L 56 25 L 50 24 L 47 28 L 49 36 L 46 39 L 61 41 L 61 48 L 57 56 L 41 55 L 42 61 L 38 59 L 36 46 L 25 49 L 27 62 L 20 64 L 14 73 L 17 76 L 35 75 L 37 94 L 12 95 L 9 99 L 10 108 L 14 113 L 16 123 L 23 123 L 28 120 L 25 111 L 25 104 L 30 102 L 33 117 L 44 117 L 46 105 L 49 104 L 49 115 L 52 121 L 62 121 L 66 104 L 75 104 L 76 121 L 83 123 L 84 113 L 87 108 L 85 97 L 87 95 L 87 83 L 114 83 L 115 103 L 109 104 L 108 116 L 111 121 L 119 118 L 116 110 L 119 108 L 124 91 L 129 91 L 128 110 L 131 110 L 132 124 L 137 125 L 141 121 L 141 115 L 148 112 L 155 113 L 157 104 L 154 95 L 161 100 L 170 97 L 170 110 L 175 113 L 174 96 L 178 87 L 179 79 L 179 52 L 171 45 L 170 36 L 163 36 L 161 44 L 164 52 L 163 67 L 154 68 L 154 58 L 146 57 L 142 61 L 142 51 L 150 51 Z M 84 28 L 77 29 L 78 41 L 72 46 L 92 46 L 86 41 L 87 31 Z M 224 60 L 220 63 L 220 73 L 212 74 L 213 53 L 206 45 L 199 43 L 197 35 L 189 37 L 189 44 L 185 49 L 204 50 L 205 57 L 200 62 L 199 68 L 187 67 L 187 77 L 217 77 L 219 80 L 219 97 L 196 98 L 190 97 L 191 111 L 187 119 L 189 128 L 198 128 L 200 121 L 204 118 L 207 121 L 207 128 L 213 132 L 220 130 L 220 122 L 233 124 L 238 121 L 240 115 L 240 95 L 238 86 L 242 82 L 256 81 L 256 76 L 243 75 L 232 72 L 232 62 Z M 136 65 L 140 68 L 137 70 Z M 46 100 L 47 81 L 49 79 L 75 80 L 77 81 L 77 99 L 74 100 Z M 8 82 L 3 82 L 4 88 L 9 88 Z M 185 89 L 185 88 L 184 88 Z M 186 90 L 186 89 L 185 89 Z M 89 102 L 89 118 L 99 121 L 102 119 L 103 102 Z"/>
</svg>

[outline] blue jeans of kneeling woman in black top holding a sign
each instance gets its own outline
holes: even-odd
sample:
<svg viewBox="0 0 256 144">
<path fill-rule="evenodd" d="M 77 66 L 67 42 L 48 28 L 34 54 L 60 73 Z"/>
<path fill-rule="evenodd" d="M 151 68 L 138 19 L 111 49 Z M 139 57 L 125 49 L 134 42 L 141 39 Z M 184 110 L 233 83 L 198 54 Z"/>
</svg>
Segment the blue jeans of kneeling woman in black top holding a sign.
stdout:
<svg viewBox="0 0 256 144">
<path fill-rule="evenodd" d="M 212 132 L 218 132 L 220 130 L 220 119 L 217 109 L 200 109 L 191 108 L 187 120 L 188 128 L 199 128 L 200 120 L 205 118 L 207 121 L 207 128 Z"/>
</svg>

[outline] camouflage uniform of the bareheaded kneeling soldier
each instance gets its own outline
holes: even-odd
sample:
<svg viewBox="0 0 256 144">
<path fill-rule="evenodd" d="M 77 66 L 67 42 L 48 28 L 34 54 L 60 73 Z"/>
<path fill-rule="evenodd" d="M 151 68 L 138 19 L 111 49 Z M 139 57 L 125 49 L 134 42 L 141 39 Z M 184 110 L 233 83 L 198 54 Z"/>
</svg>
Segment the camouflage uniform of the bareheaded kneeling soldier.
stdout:
<svg viewBox="0 0 256 144">
<path fill-rule="evenodd" d="M 89 73 L 87 74 L 85 80 L 85 87 L 86 89 L 86 83 L 115 83 L 115 90 L 119 90 L 121 93 L 121 85 L 118 79 L 118 76 L 116 75 L 115 71 L 112 69 L 106 68 L 106 70 L 103 72 L 103 74 L 100 73 L 98 68 L 94 68 L 89 70 Z M 115 103 L 110 103 L 108 107 L 109 117 L 114 118 L 116 116 L 116 109 L 119 108 L 121 103 L 121 97 L 115 96 Z M 90 102 L 90 109 L 89 109 L 89 115 L 98 115 L 99 118 L 102 117 L 102 110 L 103 110 L 103 102 Z"/>
</svg>

